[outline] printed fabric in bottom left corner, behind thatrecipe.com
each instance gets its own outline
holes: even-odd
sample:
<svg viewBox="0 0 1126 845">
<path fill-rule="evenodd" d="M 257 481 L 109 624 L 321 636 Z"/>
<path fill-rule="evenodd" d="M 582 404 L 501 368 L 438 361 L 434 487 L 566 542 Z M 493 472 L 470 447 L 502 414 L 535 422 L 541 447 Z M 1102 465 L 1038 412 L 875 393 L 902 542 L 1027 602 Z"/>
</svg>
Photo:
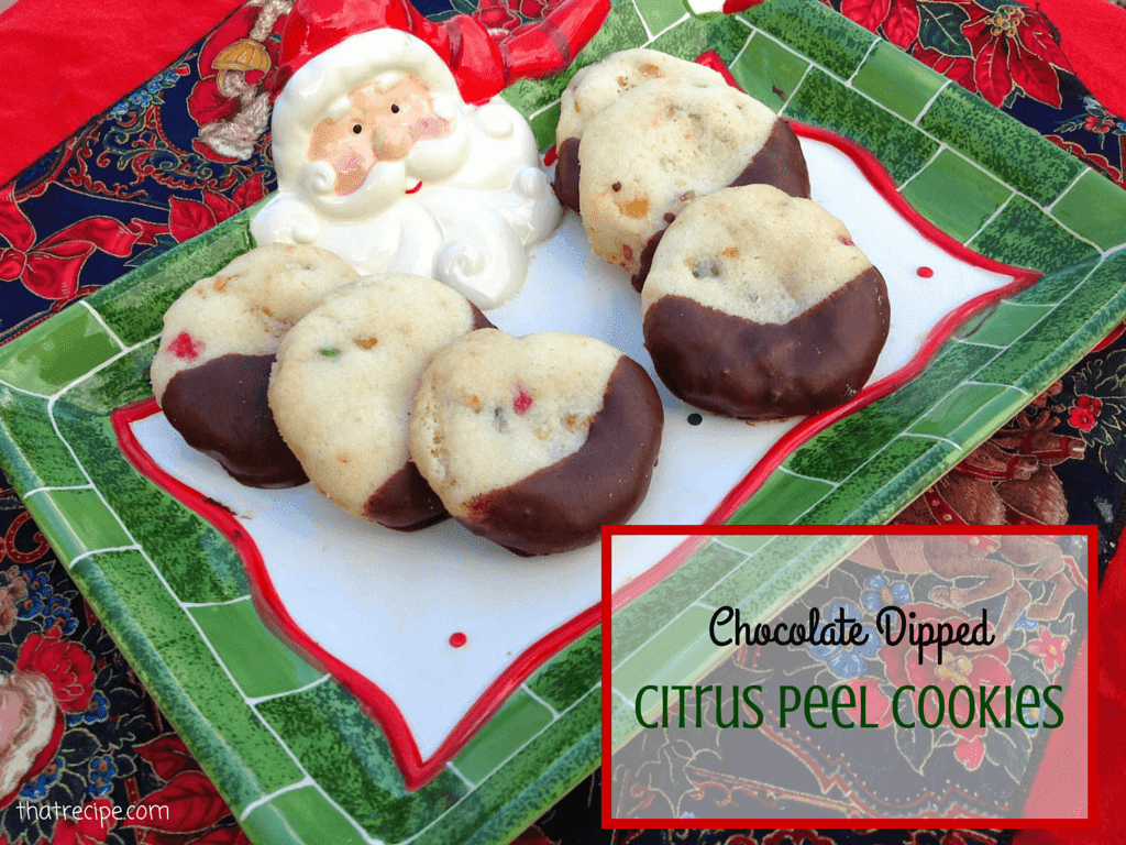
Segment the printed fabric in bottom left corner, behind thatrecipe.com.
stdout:
<svg viewBox="0 0 1126 845">
<path fill-rule="evenodd" d="M 245 845 L 12 491 L 0 501 L 0 843 Z"/>
</svg>

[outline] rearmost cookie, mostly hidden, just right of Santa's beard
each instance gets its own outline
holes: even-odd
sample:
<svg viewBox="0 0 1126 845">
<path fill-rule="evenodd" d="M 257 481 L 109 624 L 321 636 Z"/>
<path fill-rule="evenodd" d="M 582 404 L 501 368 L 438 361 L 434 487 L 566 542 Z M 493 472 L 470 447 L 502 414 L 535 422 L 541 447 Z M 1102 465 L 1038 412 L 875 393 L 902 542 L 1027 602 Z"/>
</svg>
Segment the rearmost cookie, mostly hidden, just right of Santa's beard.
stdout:
<svg viewBox="0 0 1126 845">
<path fill-rule="evenodd" d="M 623 50 L 581 69 L 563 90 L 555 130 L 555 180 L 560 202 L 579 211 L 579 144 L 587 125 L 626 91 L 654 79 L 686 79 L 701 86 L 726 86 L 711 68 L 656 50 Z"/>
</svg>

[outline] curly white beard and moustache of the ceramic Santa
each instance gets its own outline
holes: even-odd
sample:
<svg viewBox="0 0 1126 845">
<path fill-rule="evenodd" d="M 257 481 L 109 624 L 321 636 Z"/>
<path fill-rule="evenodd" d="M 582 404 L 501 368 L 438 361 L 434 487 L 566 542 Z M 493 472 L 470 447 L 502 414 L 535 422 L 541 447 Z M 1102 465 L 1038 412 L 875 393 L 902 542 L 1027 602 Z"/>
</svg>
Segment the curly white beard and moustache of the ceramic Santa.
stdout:
<svg viewBox="0 0 1126 845">
<path fill-rule="evenodd" d="M 452 124 L 449 135 L 419 141 L 402 161 L 377 163 L 343 197 L 332 193 L 334 171 L 310 162 L 301 184 L 283 186 L 254 217 L 251 233 L 259 243 L 315 243 L 365 274 L 429 276 L 481 309 L 503 304 L 524 282 L 527 247 L 558 223 L 558 202 L 510 106 L 459 110 Z M 405 193 L 419 183 L 418 193 Z"/>
</svg>

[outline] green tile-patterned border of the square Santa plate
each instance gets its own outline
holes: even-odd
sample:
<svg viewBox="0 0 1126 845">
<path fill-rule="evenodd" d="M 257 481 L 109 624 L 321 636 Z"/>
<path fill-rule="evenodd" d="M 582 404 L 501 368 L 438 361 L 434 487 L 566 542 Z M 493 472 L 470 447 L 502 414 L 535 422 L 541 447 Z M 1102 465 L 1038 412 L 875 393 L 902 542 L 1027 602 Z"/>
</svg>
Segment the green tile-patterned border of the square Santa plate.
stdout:
<svg viewBox="0 0 1126 845">
<path fill-rule="evenodd" d="M 641 45 L 686 59 L 714 50 L 783 115 L 870 150 L 954 240 L 1043 273 L 962 326 L 914 381 L 789 455 L 732 523 L 886 522 L 1126 315 L 1126 194 L 820 2 L 697 18 L 676 1 L 620 0 L 573 69 Z M 506 92 L 544 148 L 569 78 Z M 110 413 L 150 395 L 164 310 L 249 247 L 242 214 L 0 348 L 0 460 L 253 842 L 508 842 L 598 765 L 598 630 L 409 792 L 357 702 L 259 620 L 233 548 L 117 448 Z M 689 563 L 695 584 L 701 567 L 731 573 L 725 601 L 765 613 L 841 551 L 795 548 L 769 573 L 717 563 L 708 548 Z M 644 596 L 686 598 L 676 578 Z"/>
</svg>

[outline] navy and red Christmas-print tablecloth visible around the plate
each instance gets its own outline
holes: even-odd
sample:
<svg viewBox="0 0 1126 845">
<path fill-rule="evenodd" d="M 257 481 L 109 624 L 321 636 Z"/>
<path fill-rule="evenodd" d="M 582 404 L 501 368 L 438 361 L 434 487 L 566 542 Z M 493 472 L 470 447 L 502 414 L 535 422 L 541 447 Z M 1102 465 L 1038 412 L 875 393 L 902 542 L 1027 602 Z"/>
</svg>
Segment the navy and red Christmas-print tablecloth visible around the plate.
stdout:
<svg viewBox="0 0 1126 845">
<path fill-rule="evenodd" d="M 9 44 L 26 35 L 27 29 L 20 27 L 29 19 L 28 5 L 37 2 L 20 0 L 0 14 L 0 41 Z M 441 8 L 477 17 L 493 37 L 503 41 L 519 27 L 534 24 L 551 5 L 552 0 L 546 5 L 480 0 L 477 6 L 472 0 L 450 0 Z M 57 3 L 43 6 L 62 14 Z M 1091 33 L 1105 32 L 1108 38 L 1126 33 L 1126 11 L 1093 0 L 1082 7 L 1084 19 L 1079 21 L 1078 12 L 1069 11 L 1079 7 L 1062 1 L 1029 6 L 1015 0 L 833 0 L 832 6 L 1126 188 L 1126 121 L 1090 92 L 1098 87 L 1111 97 L 1117 90 L 1108 84 L 1103 69 L 1108 54 L 1120 43 L 1108 41 L 1100 47 Z M 437 6 L 420 8 L 427 14 L 439 10 Z M 43 150 L 33 144 L 34 160 L 19 149 L 10 161 L 0 161 L 0 181 L 6 180 L 0 187 L 0 279 L 6 283 L 0 290 L 0 341 L 17 337 L 274 188 L 268 155 L 274 78 L 251 65 L 225 72 L 220 56 L 230 59 L 238 48 L 260 51 L 276 65 L 288 9 L 287 0 L 249 0 L 214 24 L 226 11 L 222 3 L 195 7 L 197 32 L 214 24 L 205 37 L 158 72 L 149 72 L 143 84 L 122 92 L 118 101 L 77 131 L 73 126 L 60 130 Z M 16 19 L 19 26 L 6 29 Z M 65 32 L 65 21 L 57 28 Z M 1072 37 L 1076 32 L 1088 37 Z M 83 35 L 96 37 L 92 33 L 75 37 Z M 128 50 L 120 53 L 124 59 L 129 55 Z M 108 90 L 105 82 L 91 84 Z M 21 114 L 43 105 L 36 96 L 20 99 L 26 90 L 9 84 L 0 95 L 9 128 Z M 81 114 L 81 106 L 75 112 L 72 103 L 59 106 L 62 112 L 68 108 Z M 41 132 L 35 137 L 42 143 L 45 136 Z M 5 172 L 17 160 L 30 163 L 18 172 Z M 1126 567 L 1114 560 L 1126 519 L 1124 418 L 1126 338 L 1112 337 L 901 518 L 926 522 L 927 502 L 940 501 L 968 524 L 988 517 L 992 522 L 1096 525 L 1099 577 L 1107 578 L 1103 601 L 1108 595 L 1119 596 L 1126 589 L 1121 572 Z M 1053 439 L 1057 448 L 1036 445 L 1040 442 L 1026 436 L 1033 432 Z M 980 471 L 983 462 L 998 457 L 1020 459 L 1033 471 L 1022 479 L 990 478 Z M 0 845 L 245 842 L 10 484 L 0 481 L 0 486 L 5 488 L 0 490 Z M 1120 736 L 1109 721 L 1121 715 L 1126 700 L 1121 681 L 1112 671 L 1121 662 L 1120 651 L 1108 633 L 1099 668 L 1105 798 L 1121 792 L 1112 776 L 1120 749 L 1115 740 Z M 57 732 L 57 750 L 50 758 L 27 759 L 21 742 L 29 732 L 44 730 Z M 1037 790 L 1051 789 L 1046 782 L 1031 786 L 1034 797 L 1040 794 Z M 171 812 L 159 821 L 74 822 L 28 818 L 19 811 L 28 802 L 107 808 L 162 804 Z M 1102 803 L 1099 835 L 1112 842 L 1121 802 Z M 596 774 L 519 842 L 985 845 L 1011 838 L 1012 831 L 604 831 Z M 1060 840 L 1094 839 L 1090 831 L 1017 835 L 1022 845 Z"/>
</svg>

